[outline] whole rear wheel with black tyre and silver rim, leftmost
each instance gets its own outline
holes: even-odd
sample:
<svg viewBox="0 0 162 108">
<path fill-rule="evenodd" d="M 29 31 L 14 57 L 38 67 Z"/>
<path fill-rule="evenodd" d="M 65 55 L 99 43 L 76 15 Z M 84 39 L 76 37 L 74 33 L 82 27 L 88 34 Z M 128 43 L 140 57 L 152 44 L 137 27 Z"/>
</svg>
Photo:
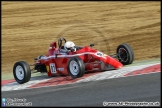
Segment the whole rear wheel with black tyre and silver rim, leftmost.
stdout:
<svg viewBox="0 0 162 108">
<path fill-rule="evenodd" d="M 26 83 L 31 78 L 30 66 L 25 61 L 18 61 L 13 66 L 13 75 L 19 84 Z"/>
</svg>

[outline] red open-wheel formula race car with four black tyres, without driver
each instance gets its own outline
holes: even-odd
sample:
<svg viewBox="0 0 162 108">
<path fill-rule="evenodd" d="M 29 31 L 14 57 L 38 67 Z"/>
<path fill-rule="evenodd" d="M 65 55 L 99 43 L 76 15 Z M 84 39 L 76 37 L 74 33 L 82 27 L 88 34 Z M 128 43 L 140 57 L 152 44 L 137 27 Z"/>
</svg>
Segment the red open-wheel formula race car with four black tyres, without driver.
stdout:
<svg viewBox="0 0 162 108">
<path fill-rule="evenodd" d="M 56 42 L 52 42 L 46 56 L 41 55 L 34 59 L 33 69 L 30 69 L 30 65 L 25 61 L 16 62 L 13 66 L 15 80 L 20 84 L 28 82 L 33 70 L 45 72 L 48 76 L 70 75 L 72 78 L 78 78 L 86 72 L 119 69 L 134 60 L 132 48 L 125 43 L 117 47 L 116 54 L 106 55 L 93 49 L 94 44 L 90 44 L 90 47 L 76 46 L 76 51 L 66 53 L 62 51 L 63 42 L 66 43 L 66 39 L 59 38 L 58 47 Z"/>
</svg>

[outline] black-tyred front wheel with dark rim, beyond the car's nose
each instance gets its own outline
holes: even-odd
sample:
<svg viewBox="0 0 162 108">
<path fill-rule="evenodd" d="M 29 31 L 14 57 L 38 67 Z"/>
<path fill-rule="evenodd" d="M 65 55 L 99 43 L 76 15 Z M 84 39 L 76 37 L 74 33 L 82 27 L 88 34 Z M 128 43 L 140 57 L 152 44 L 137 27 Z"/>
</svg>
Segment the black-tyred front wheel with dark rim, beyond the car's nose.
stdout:
<svg viewBox="0 0 162 108">
<path fill-rule="evenodd" d="M 123 43 L 117 47 L 118 60 L 123 65 L 131 64 L 134 60 L 134 52 L 129 44 Z"/>
</svg>

